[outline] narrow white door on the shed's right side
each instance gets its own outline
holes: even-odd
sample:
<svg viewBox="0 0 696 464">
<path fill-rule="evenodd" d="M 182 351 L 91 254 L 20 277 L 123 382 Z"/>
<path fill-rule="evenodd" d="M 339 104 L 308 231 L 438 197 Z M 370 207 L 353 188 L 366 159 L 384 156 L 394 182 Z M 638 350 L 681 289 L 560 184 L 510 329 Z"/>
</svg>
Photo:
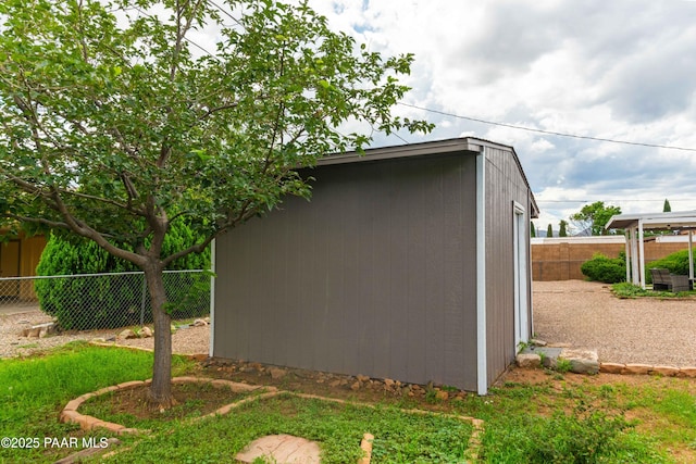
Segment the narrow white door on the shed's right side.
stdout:
<svg viewBox="0 0 696 464">
<path fill-rule="evenodd" d="M 514 202 L 513 256 L 514 256 L 514 346 L 530 340 L 530 318 L 527 308 L 527 263 L 526 263 L 526 214 L 524 208 Z"/>
</svg>

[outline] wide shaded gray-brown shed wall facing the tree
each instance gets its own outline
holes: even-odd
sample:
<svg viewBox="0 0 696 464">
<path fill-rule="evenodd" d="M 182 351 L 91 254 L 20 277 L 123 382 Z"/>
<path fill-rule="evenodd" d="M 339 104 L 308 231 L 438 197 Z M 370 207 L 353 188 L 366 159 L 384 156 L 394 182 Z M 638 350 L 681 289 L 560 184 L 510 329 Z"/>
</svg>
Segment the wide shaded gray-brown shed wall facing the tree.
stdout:
<svg viewBox="0 0 696 464">
<path fill-rule="evenodd" d="M 309 174 L 217 240 L 213 354 L 475 389 L 474 156 Z"/>
</svg>

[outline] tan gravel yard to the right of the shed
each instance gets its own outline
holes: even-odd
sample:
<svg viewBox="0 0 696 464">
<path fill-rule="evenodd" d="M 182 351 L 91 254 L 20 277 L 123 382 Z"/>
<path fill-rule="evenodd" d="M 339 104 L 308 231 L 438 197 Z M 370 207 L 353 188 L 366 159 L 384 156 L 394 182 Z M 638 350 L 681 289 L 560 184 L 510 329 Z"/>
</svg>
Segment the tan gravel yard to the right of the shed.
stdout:
<svg viewBox="0 0 696 464">
<path fill-rule="evenodd" d="M 535 336 L 596 349 L 600 362 L 696 366 L 696 300 L 620 300 L 606 284 L 534 283 Z"/>
</svg>

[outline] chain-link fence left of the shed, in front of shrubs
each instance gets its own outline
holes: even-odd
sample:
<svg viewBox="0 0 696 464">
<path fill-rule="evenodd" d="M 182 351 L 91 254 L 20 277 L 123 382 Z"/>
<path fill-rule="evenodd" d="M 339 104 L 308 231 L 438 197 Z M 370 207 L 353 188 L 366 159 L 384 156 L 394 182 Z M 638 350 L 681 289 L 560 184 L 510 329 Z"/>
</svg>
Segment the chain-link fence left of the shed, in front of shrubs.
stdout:
<svg viewBox="0 0 696 464">
<path fill-rule="evenodd" d="M 173 319 L 210 314 L 211 274 L 165 271 L 166 311 Z M 63 330 L 90 330 L 152 322 L 141 272 L 0 278 L 0 306 L 40 309 Z"/>
</svg>

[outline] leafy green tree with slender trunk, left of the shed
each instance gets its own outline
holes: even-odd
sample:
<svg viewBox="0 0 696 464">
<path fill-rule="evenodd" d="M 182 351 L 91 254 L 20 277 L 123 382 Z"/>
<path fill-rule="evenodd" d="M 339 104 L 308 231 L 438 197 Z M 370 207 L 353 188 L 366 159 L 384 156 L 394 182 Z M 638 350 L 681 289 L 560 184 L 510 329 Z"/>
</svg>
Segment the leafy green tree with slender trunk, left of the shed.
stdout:
<svg viewBox="0 0 696 464">
<path fill-rule="evenodd" d="M 166 407 L 162 271 L 284 196 L 308 198 L 296 167 L 371 140 L 343 123 L 386 134 L 433 126 L 391 114 L 412 55 L 356 47 L 306 1 L 227 0 L 244 12 L 235 22 L 222 0 L 114 1 L 0 3 L 0 213 L 14 228 L 90 239 L 145 272 L 150 403 Z M 204 27 L 219 42 L 201 53 L 194 36 Z M 174 224 L 203 238 L 166 254 Z"/>
</svg>

